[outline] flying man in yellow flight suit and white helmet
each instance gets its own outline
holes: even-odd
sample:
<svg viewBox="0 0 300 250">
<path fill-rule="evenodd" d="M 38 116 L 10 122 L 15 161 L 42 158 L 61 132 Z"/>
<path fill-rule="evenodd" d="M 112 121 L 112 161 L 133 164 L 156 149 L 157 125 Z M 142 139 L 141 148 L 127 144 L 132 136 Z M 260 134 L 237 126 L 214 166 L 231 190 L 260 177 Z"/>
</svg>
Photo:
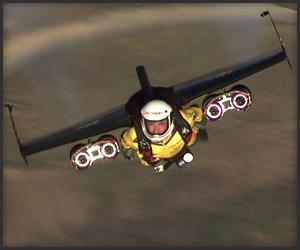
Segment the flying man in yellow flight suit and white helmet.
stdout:
<svg viewBox="0 0 300 250">
<path fill-rule="evenodd" d="M 201 108 L 190 106 L 175 112 L 166 101 L 154 99 L 140 113 L 140 128 L 131 127 L 121 136 L 126 158 L 139 159 L 142 165 L 152 166 L 158 173 L 174 159 L 179 167 L 193 160 L 188 147 L 196 142 L 203 126 Z M 201 131 L 205 131 L 203 138 L 207 137 L 206 130 Z"/>
</svg>

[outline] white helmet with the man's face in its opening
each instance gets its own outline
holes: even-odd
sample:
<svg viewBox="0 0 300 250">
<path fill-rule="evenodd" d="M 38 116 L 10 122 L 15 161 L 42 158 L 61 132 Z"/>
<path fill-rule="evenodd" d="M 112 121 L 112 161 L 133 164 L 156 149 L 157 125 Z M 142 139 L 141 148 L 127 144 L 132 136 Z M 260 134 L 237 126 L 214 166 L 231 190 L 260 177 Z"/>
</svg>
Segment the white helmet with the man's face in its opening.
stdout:
<svg viewBox="0 0 300 250">
<path fill-rule="evenodd" d="M 172 132 L 174 128 L 172 108 L 165 101 L 152 100 L 148 102 L 142 108 L 141 114 L 142 130 L 151 142 L 162 141 Z"/>
</svg>

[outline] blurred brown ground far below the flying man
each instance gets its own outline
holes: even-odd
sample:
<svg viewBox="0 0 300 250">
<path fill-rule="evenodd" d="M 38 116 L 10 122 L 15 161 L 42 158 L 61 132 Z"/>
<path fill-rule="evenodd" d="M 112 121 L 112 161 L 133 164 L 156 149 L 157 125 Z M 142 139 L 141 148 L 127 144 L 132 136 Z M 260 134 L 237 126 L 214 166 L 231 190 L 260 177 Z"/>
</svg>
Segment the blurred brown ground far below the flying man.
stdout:
<svg viewBox="0 0 300 250">
<path fill-rule="evenodd" d="M 5 4 L 4 103 L 22 141 L 278 47 L 280 63 L 241 81 L 246 113 L 209 123 L 194 162 L 161 175 L 119 157 L 76 172 L 72 145 L 26 168 L 4 112 L 5 246 L 293 246 L 296 243 L 296 11 L 258 4 Z M 120 135 L 121 130 L 113 134 Z"/>
</svg>

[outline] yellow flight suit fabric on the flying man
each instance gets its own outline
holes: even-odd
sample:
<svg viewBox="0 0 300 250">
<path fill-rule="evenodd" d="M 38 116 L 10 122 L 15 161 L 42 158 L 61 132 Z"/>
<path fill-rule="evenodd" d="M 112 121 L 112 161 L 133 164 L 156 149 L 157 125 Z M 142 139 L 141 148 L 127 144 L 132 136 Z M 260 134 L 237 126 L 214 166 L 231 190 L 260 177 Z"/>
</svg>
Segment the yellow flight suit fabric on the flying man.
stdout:
<svg viewBox="0 0 300 250">
<path fill-rule="evenodd" d="M 195 123 L 202 121 L 203 113 L 201 108 L 194 106 L 180 110 L 180 113 L 184 120 L 186 120 L 192 128 L 192 138 L 188 143 L 188 146 L 191 146 L 196 142 L 197 139 L 198 128 L 195 127 Z M 160 159 L 172 158 L 181 151 L 181 149 L 184 147 L 184 144 L 185 142 L 178 131 L 175 134 L 170 133 L 170 135 L 163 141 L 151 144 L 153 157 L 157 158 L 157 161 Z M 149 166 L 149 164 L 142 159 L 143 155 L 139 153 L 137 135 L 134 127 L 131 127 L 123 133 L 121 137 L 121 147 L 124 150 L 135 150 L 141 163 L 144 166 Z"/>
</svg>

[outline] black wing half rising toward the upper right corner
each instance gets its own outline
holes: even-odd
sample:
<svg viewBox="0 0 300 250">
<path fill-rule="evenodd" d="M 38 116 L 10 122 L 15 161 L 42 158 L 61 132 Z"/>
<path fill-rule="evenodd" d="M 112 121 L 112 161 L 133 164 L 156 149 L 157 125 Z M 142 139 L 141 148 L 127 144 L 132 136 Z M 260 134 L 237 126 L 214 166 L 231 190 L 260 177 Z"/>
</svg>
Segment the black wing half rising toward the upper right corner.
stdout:
<svg viewBox="0 0 300 250">
<path fill-rule="evenodd" d="M 173 86 L 173 91 L 179 105 L 185 105 L 193 99 L 222 89 L 285 59 L 287 54 L 282 46 L 245 62 L 176 84 Z"/>
</svg>

